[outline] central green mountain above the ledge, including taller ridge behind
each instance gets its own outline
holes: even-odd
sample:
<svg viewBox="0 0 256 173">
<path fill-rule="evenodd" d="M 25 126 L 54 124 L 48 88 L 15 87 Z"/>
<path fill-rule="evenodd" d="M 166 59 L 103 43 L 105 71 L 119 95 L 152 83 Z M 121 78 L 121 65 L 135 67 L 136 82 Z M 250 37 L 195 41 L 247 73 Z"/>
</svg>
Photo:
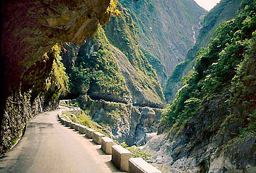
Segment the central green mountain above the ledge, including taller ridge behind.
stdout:
<svg viewBox="0 0 256 173">
<path fill-rule="evenodd" d="M 148 59 L 161 62 L 139 46 L 135 23 L 121 4 L 118 16 L 98 29 L 94 38 L 83 46 L 64 45 L 66 72 L 70 78 L 71 95 L 89 95 L 91 99 L 131 103 L 139 106 L 163 107 L 163 96 L 156 71 Z M 122 66 L 122 67 L 121 67 Z"/>
</svg>

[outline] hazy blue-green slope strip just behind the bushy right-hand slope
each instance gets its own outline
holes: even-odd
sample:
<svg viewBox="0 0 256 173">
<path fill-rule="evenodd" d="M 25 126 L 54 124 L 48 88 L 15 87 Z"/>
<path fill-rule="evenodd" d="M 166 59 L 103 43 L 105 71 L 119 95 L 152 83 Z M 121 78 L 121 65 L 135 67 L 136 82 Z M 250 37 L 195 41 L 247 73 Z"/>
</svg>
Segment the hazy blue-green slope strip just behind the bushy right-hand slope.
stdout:
<svg viewBox="0 0 256 173">
<path fill-rule="evenodd" d="M 168 103 L 174 100 L 175 94 L 182 87 L 182 77 L 193 69 L 197 51 L 210 42 L 210 38 L 215 36 L 215 30 L 222 21 L 229 20 L 236 15 L 240 2 L 241 0 L 222 0 L 205 15 L 195 46 L 187 52 L 184 61 L 177 65 L 167 80 L 164 93 Z"/>
</svg>

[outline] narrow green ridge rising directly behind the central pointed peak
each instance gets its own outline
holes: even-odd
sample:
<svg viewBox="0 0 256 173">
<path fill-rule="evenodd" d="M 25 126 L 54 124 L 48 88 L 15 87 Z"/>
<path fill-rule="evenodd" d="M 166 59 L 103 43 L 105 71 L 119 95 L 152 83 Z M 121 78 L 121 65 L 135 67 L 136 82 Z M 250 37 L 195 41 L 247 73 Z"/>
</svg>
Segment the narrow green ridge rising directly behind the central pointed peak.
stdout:
<svg viewBox="0 0 256 173">
<path fill-rule="evenodd" d="M 127 56 L 136 70 L 157 80 L 154 69 L 138 47 L 138 34 L 131 15 L 122 7 L 119 8 L 122 16 L 112 17 L 110 23 L 103 26 L 106 36 L 111 44 Z"/>
</svg>

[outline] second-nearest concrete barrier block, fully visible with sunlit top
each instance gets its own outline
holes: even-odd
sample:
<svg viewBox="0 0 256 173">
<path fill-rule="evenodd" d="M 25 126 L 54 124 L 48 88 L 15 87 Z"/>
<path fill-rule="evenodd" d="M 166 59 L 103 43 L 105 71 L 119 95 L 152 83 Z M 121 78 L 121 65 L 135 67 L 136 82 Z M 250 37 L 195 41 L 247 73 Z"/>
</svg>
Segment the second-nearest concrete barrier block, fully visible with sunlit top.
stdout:
<svg viewBox="0 0 256 173">
<path fill-rule="evenodd" d="M 123 171 L 129 170 L 128 160 L 131 158 L 131 152 L 120 145 L 112 146 L 112 162 Z"/>
</svg>

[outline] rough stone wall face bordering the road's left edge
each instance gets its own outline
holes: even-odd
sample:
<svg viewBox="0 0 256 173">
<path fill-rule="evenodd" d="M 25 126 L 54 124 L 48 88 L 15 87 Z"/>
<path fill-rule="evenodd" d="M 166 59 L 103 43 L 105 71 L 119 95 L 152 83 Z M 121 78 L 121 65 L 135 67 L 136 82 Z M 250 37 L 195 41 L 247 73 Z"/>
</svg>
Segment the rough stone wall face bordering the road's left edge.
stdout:
<svg viewBox="0 0 256 173">
<path fill-rule="evenodd" d="M 4 114 L 0 132 L 0 154 L 11 148 L 22 134 L 22 129 L 34 115 L 43 111 L 57 108 L 57 103 L 50 103 L 48 107 L 44 105 L 44 97 L 38 96 L 33 100 L 24 97 L 20 92 L 14 93 L 6 100 Z"/>
</svg>

